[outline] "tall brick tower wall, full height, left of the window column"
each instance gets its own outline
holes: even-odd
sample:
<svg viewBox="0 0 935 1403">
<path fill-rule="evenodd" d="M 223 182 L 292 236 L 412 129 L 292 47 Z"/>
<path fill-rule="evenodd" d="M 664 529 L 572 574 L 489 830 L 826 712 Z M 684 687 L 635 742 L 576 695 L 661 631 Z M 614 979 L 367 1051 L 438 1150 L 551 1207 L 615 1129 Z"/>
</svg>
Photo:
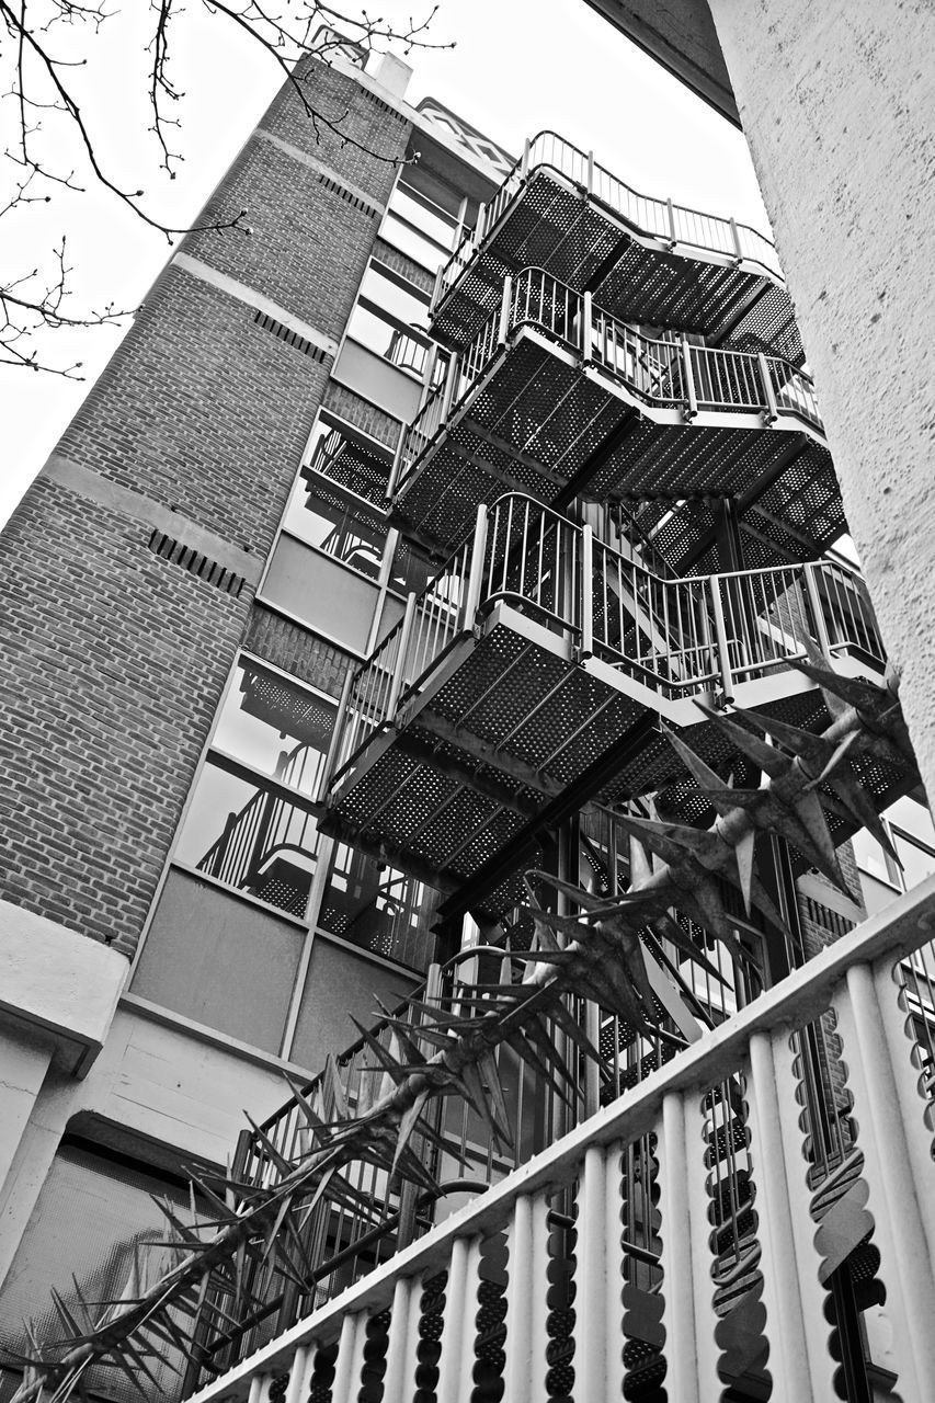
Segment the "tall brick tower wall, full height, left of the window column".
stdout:
<svg viewBox="0 0 935 1403">
<path fill-rule="evenodd" d="M 306 65 L 300 80 L 358 142 L 403 150 L 407 123 L 352 79 Z M 394 166 L 316 133 L 295 93 L 264 122 L 385 201 Z M 378 223 L 319 177 L 247 143 L 209 208 L 248 206 L 254 233 L 185 240 L 220 286 L 170 264 L 62 436 L 72 485 L 41 478 L 0 537 L 0 899 L 128 953 L 251 607 L 250 589 L 234 598 L 154 556 L 147 511 L 171 508 L 180 539 L 199 528 L 268 553 L 330 359 L 264 330 L 250 297 L 337 340 Z M 343 655 L 267 610 L 247 641 L 340 689 Z"/>
</svg>

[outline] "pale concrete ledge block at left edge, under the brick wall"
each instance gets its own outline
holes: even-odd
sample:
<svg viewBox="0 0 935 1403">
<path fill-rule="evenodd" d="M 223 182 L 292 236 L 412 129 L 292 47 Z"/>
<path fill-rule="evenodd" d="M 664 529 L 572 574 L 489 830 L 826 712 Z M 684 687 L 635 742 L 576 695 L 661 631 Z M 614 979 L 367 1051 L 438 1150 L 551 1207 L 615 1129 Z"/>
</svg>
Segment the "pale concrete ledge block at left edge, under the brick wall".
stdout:
<svg viewBox="0 0 935 1403">
<path fill-rule="evenodd" d="M 0 902 L 0 1026 L 51 1042 L 73 1076 L 101 1051 L 128 975 L 117 950 Z"/>
</svg>

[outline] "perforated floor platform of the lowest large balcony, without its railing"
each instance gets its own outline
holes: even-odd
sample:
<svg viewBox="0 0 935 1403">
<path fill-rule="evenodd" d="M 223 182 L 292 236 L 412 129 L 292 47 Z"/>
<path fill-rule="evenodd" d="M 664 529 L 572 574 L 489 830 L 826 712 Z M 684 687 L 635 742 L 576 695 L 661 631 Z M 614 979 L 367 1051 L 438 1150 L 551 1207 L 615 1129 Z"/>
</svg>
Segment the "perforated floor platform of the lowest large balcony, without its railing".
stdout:
<svg viewBox="0 0 935 1403">
<path fill-rule="evenodd" d="M 783 585 L 786 605 L 790 588 Z M 775 633 L 775 607 L 768 609 L 761 631 Z M 785 624 L 790 627 L 788 613 Z M 726 631 L 737 633 L 730 622 Z M 555 613 L 546 617 L 535 600 L 517 592 L 487 598 L 473 627 L 449 637 L 392 714 L 373 714 L 371 707 L 368 724 L 350 730 L 327 798 L 327 828 L 451 892 L 501 854 L 585 772 L 599 773 L 602 756 L 615 753 L 630 734 L 639 737 L 633 753 L 623 765 L 608 766 L 590 800 L 612 804 L 682 781 L 682 763 L 660 720 L 679 730 L 713 767 L 723 770 L 736 760 L 744 783 L 743 759 L 695 704 L 695 699 L 715 700 L 719 678 L 703 675 L 719 665 L 713 652 L 702 655 L 691 643 L 679 678 L 677 661 L 647 659 L 632 643 L 615 647 L 609 638 L 606 627 L 598 627 L 594 651 L 585 654 L 580 630 Z M 741 647 L 750 654 L 750 638 L 729 640 L 729 654 L 738 659 Z M 786 647 L 795 648 L 795 641 L 786 638 Z M 882 654 L 876 641 L 872 648 Z M 355 703 L 368 709 L 366 668 L 389 665 L 371 659 L 361 669 L 348 697 L 351 710 Z M 835 644 L 835 666 L 879 678 L 883 664 L 870 659 L 868 668 L 866 651 L 856 657 L 851 641 Z M 731 697 L 737 706 L 803 728 L 828 724 L 817 689 L 775 650 L 734 672 Z M 884 793 L 891 777 L 879 779 L 876 788 Z M 533 861 L 529 857 L 524 866 Z M 496 919 L 518 898 L 514 877 L 483 897 L 479 909 Z"/>
</svg>

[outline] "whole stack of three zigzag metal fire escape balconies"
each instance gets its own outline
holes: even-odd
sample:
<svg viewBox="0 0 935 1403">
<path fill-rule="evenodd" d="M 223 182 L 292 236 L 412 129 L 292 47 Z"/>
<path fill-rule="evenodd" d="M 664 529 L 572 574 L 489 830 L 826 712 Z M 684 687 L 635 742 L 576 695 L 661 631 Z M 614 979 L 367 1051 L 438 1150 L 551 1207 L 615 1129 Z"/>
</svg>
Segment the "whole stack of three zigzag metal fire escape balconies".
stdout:
<svg viewBox="0 0 935 1403">
<path fill-rule="evenodd" d="M 751 777 L 699 702 L 813 728 L 796 661 L 884 658 L 859 577 L 820 558 L 841 495 L 761 236 L 543 133 L 439 271 L 432 331 L 446 376 L 389 494 L 446 563 L 348 678 L 324 798 L 444 911 L 498 919 L 543 832 L 678 784 L 665 727 Z M 894 776 L 862 779 L 883 804 Z"/>
</svg>

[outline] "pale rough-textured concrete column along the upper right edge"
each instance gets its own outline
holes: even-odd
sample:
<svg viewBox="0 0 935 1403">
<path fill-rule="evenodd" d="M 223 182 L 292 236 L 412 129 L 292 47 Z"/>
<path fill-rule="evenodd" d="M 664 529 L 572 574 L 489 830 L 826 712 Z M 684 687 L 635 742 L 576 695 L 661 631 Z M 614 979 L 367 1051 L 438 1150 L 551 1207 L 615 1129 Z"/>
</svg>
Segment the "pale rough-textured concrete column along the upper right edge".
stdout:
<svg viewBox="0 0 935 1403">
<path fill-rule="evenodd" d="M 935 8 L 710 10 L 935 797 Z"/>
</svg>

